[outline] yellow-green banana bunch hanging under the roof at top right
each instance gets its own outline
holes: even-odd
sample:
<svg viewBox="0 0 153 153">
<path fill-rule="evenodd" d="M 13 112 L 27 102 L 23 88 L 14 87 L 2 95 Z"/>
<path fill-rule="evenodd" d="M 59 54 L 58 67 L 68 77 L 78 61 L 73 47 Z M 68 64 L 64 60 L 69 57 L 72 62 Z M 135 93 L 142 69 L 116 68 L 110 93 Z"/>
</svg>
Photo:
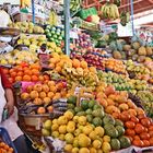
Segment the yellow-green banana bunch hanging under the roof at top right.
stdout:
<svg viewBox="0 0 153 153">
<path fill-rule="evenodd" d="M 116 20 L 119 17 L 118 7 L 114 3 L 105 3 L 102 7 L 101 12 L 104 19 Z"/>
</svg>

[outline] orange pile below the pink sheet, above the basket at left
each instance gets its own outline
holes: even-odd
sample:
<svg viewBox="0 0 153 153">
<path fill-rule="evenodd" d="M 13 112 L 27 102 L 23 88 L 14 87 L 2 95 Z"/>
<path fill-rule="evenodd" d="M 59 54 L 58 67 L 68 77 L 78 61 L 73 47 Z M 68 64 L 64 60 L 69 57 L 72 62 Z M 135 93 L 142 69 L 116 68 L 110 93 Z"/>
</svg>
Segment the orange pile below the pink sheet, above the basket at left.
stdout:
<svg viewBox="0 0 153 153">
<path fill-rule="evenodd" d="M 34 105 L 38 105 L 37 114 L 52 113 L 52 101 L 67 96 L 67 90 L 63 82 L 56 83 L 48 81 L 44 84 L 36 83 L 28 85 L 26 92 L 21 94 L 23 101 L 31 99 Z M 44 106 L 48 106 L 47 109 Z"/>
</svg>

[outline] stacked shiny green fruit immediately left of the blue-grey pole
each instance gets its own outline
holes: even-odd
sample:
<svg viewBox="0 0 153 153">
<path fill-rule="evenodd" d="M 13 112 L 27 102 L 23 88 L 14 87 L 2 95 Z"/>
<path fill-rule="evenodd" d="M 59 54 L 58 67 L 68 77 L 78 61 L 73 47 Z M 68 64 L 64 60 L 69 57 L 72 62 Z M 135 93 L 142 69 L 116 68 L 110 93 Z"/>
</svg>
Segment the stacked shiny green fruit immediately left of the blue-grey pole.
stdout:
<svg viewBox="0 0 153 153">
<path fill-rule="evenodd" d="M 57 44 L 57 46 L 61 46 L 61 42 L 63 42 L 64 37 L 64 32 L 62 27 L 47 25 L 45 34 L 49 42 L 54 42 Z"/>
</svg>

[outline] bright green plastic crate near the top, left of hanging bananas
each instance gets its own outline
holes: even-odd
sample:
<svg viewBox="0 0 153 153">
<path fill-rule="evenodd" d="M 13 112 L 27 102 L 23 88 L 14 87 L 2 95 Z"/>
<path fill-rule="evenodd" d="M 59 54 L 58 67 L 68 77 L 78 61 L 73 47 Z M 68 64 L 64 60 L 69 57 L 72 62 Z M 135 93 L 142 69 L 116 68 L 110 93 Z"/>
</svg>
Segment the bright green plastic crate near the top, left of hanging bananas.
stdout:
<svg viewBox="0 0 153 153">
<path fill-rule="evenodd" d="M 80 17 L 83 20 L 85 20 L 90 15 L 96 15 L 96 14 L 97 14 L 97 11 L 95 8 L 90 8 L 90 9 L 85 9 L 85 10 L 80 11 Z"/>
</svg>

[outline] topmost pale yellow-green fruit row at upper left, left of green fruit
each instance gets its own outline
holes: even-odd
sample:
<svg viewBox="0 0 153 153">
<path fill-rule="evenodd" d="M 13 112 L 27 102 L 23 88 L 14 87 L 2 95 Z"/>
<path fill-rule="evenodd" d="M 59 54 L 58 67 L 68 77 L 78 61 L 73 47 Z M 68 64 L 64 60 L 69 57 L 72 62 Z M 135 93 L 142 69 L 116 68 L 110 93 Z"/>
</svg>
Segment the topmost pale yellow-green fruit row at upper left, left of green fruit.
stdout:
<svg viewBox="0 0 153 153">
<path fill-rule="evenodd" d="M 14 27 L 20 30 L 22 33 L 28 34 L 44 34 L 44 28 L 33 24 L 32 22 L 16 22 L 9 24 L 9 27 Z"/>
</svg>

